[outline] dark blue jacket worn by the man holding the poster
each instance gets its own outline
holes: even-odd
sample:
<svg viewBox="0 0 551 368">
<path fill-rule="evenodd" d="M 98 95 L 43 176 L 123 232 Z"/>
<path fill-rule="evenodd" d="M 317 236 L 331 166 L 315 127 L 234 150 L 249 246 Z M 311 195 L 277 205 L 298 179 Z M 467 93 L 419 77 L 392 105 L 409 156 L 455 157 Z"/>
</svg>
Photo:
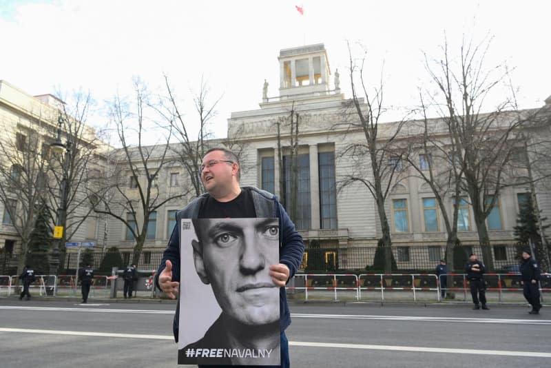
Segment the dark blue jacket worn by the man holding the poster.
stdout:
<svg viewBox="0 0 551 368">
<path fill-rule="evenodd" d="M 289 280 L 295 276 L 295 273 L 302 262 L 302 254 L 304 253 L 304 241 L 302 236 L 295 229 L 295 225 L 285 212 L 285 209 L 278 201 L 278 198 L 273 194 L 264 190 L 259 190 L 256 187 L 242 187 L 251 191 L 256 216 L 259 218 L 279 218 L 280 225 L 280 263 L 289 267 Z M 163 259 L 160 261 L 160 266 L 155 274 L 155 285 L 159 286 L 160 272 L 165 269 L 165 262 L 170 260 L 172 263 L 172 280 L 180 282 L 180 220 L 182 218 L 198 218 L 199 209 L 202 201 L 208 198 L 209 194 L 205 193 L 191 201 L 189 205 L 176 212 L 176 225 L 172 230 L 167 249 L 163 252 Z M 291 325 L 291 312 L 287 303 L 287 293 L 285 288 L 280 288 L 280 327 L 284 331 Z M 174 339 L 178 342 L 178 323 L 180 316 L 180 303 L 176 304 L 176 314 L 174 314 Z"/>
</svg>

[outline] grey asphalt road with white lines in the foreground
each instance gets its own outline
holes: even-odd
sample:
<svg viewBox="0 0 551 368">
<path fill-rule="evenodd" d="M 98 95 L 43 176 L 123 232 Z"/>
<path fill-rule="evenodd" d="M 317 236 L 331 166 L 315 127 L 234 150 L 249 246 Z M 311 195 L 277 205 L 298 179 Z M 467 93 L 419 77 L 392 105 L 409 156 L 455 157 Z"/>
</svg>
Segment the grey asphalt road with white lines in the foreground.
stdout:
<svg viewBox="0 0 551 368">
<path fill-rule="evenodd" d="M 293 304 L 291 365 L 550 367 L 551 308 Z M 0 367 L 177 367 L 172 303 L 0 298 Z M 548 313 L 547 313 L 548 312 Z M 191 367 L 191 366 L 179 366 Z"/>
</svg>

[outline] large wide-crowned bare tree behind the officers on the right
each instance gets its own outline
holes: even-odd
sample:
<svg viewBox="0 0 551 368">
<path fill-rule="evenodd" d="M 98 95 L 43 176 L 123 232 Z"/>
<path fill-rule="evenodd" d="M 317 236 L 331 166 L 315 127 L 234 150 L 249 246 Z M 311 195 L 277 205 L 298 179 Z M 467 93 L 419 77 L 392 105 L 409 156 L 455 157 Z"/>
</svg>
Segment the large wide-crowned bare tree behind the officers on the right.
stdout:
<svg viewBox="0 0 551 368">
<path fill-rule="evenodd" d="M 461 190 L 470 199 L 482 256 L 493 269 L 486 218 L 508 184 L 506 169 L 519 141 L 519 128 L 534 116 L 520 111 L 514 92 L 501 99 L 492 112 L 483 112 L 491 94 L 501 94 L 508 85 L 506 65 L 485 68 L 491 38 L 481 43 L 463 41 L 457 63 L 451 59 L 447 41 L 439 59 L 425 55 L 425 65 L 438 94 L 433 99 L 439 113 L 448 121 L 449 139 L 456 148 L 463 172 Z M 513 91 L 508 86 L 510 91 Z"/>
</svg>

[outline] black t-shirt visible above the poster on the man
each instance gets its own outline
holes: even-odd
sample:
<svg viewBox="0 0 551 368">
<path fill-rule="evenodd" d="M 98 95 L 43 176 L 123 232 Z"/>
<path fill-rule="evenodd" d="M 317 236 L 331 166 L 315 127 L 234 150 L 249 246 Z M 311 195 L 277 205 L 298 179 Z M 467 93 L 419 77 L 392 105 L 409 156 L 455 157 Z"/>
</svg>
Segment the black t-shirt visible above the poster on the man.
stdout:
<svg viewBox="0 0 551 368">
<path fill-rule="evenodd" d="M 211 196 L 203 201 L 198 218 L 255 218 L 251 191 L 242 189 L 241 193 L 229 202 L 218 202 Z"/>
</svg>

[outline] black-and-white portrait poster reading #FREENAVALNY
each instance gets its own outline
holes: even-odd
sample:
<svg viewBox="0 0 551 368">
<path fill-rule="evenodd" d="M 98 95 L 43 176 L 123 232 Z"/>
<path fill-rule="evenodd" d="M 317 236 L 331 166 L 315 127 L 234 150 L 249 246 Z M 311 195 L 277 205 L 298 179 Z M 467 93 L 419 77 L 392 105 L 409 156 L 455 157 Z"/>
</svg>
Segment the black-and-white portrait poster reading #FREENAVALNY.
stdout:
<svg viewBox="0 0 551 368">
<path fill-rule="evenodd" d="M 180 223 L 180 365 L 280 365 L 277 218 Z"/>
</svg>

